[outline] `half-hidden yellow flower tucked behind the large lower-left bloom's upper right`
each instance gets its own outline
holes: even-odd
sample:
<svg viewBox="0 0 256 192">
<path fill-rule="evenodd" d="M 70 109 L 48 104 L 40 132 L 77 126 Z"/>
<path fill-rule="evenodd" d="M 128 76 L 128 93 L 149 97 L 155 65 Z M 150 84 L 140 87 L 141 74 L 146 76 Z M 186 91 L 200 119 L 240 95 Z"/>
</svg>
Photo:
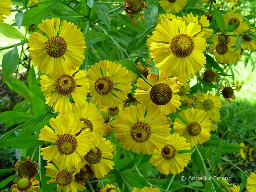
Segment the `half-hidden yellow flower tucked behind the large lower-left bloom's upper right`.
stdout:
<svg viewBox="0 0 256 192">
<path fill-rule="evenodd" d="M 78 136 L 84 129 L 90 128 L 90 132 L 93 133 L 92 147 L 96 145 L 98 140 L 102 140 L 102 136 L 105 134 L 104 119 L 101 116 L 101 112 L 98 111 L 96 105 L 86 102 L 81 107 L 76 107 L 72 104 L 73 116 L 84 122 L 84 128 L 82 128 L 76 136 Z"/>
</svg>

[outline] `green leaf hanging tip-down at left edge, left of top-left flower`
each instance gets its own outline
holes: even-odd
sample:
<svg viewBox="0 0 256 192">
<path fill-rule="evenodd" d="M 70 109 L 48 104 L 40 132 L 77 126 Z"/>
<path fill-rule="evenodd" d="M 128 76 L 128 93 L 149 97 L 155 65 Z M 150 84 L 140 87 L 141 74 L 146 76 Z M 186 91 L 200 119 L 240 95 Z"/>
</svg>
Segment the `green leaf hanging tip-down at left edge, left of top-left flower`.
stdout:
<svg viewBox="0 0 256 192">
<path fill-rule="evenodd" d="M 15 71 L 18 64 L 19 53 L 17 47 L 15 46 L 12 50 L 3 55 L 3 84 Z"/>
</svg>

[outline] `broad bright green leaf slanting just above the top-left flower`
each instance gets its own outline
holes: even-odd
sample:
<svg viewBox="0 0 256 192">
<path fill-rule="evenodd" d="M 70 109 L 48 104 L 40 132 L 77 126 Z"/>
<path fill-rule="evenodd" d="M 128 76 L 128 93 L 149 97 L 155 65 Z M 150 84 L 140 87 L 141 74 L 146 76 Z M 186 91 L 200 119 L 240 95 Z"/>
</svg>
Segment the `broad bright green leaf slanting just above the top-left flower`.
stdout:
<svg viewBox="0 0 256 192">
<path fill-rule="evenodd" d="M 55 7 L 57 1 L 46 3 L 44 5 L 40 5 L 38 7 L 29 9 L 28 11 L 23 13 L 23 22 L 22 26 L 29 26 L 34 23 L 41 22 L 44 18 L 49 15 L 52 9 Z"/>
</svg>

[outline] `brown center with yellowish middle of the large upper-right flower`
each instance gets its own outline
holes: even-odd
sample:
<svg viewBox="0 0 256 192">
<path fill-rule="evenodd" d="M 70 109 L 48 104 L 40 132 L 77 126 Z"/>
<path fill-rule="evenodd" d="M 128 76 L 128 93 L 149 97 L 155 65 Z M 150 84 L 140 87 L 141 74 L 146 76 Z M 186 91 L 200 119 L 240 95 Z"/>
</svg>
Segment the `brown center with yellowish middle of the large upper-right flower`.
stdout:
<svg viewBox="0 0 256 192">
<path fill-rule="evenodd" d="M 179 58 L 184 58 L 189 56 L 194 50 L 194 41 L 187 34 L 178 34 L 172 38 L 170 42 L 170 49 L 172 54 Z"/>
</svg>

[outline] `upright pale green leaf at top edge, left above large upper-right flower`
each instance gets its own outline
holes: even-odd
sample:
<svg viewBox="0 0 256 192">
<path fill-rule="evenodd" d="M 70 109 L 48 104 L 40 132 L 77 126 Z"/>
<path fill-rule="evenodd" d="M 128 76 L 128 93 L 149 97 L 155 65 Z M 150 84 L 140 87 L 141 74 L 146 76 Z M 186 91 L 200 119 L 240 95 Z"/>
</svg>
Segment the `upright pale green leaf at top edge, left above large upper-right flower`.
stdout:
<svg viewBox="0 0 256 192">
<path fill-rule="evenodd" d="M 147 0 L 148 9 L 144 8 L 145 22 L 148 26 L 156 25 L 158 20 L 158 7 L 151 1 Z"/>
</svg>

